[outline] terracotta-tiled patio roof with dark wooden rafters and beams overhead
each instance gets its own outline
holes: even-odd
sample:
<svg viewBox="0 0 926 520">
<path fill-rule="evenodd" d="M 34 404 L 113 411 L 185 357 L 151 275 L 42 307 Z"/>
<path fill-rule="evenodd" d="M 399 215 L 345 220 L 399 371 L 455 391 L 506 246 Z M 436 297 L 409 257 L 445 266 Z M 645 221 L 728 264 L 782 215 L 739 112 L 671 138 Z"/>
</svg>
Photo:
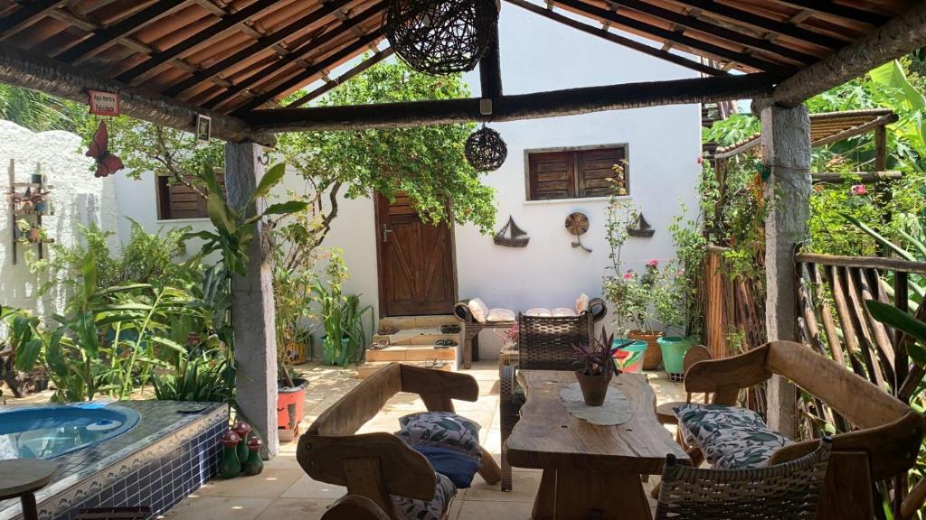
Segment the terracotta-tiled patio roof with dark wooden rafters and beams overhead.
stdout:
<svg viewBox="0 0 926 520">
<path fill-rule="evenodd" d="M 392 53 L 382 28 L 387 2 L 0 0 L 0 81 L 81 100 L 88 88 L 119 91 L 126 113 L 181 128 L 192 128 L 192 114 L 205 113 L 216 134 L 231 140 L 300 128 L 480 118 L 478 99 L 420 105 L 411 115 L 403 110 L 404 117 L 386 107 L 363 115 L 294 108 Z M 830 82 L 845 80 L 926 41 L 926 8 L 914 0 L 508 2 L 713 78 L 645 90 L 617 85 L 493 96 L 495 120 L 753 96 L 788 79 L 792 84 L 774 99 L 795 105 L 825 90 L 820 73 Z M 505 44 L 504 33 L 499 40 Z M 874 44 L 881 51 L 867 52 Z M 365 52 L 373 59 L 343 78 L 330 77 L 332 68 Z M 826 61 L 832 63 L 815 69 Z M 287 110 L 272 110 L 319 80 L 323 86 Z"/>
</svg>

